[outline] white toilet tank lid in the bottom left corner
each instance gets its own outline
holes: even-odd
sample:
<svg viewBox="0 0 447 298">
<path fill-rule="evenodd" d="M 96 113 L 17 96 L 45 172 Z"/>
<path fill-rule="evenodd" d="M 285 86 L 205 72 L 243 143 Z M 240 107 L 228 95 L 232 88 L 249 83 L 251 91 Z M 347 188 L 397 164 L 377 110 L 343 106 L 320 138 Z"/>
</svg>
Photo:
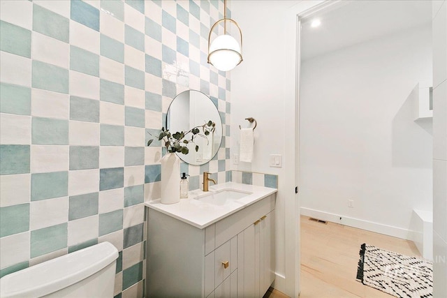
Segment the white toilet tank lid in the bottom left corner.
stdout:
<svg viewBox="0 0 447 298">
<path fill-rule="evenodd" d="M 41 297 L 82 281 L 118 258 L 118 250 L 102 242 L 0 278 L 0 297 Z"/>
</svg>

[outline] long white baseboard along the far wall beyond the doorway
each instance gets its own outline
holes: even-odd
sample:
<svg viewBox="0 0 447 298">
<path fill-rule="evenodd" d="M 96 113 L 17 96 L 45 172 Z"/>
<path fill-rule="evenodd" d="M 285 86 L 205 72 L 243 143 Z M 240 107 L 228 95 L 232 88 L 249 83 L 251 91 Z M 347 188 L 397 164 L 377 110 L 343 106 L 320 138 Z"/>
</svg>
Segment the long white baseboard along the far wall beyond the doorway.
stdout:
<svg viewBox="0 0 447 298">
<path fill-rule="evenodd" d="M 301 207 L 301 215 L 318 218 L 323 221 L 330 221 L 332 223 L 341 223 L 349 227 L 359 228 L 379 234 L 386 234 L 397 238 L 413 241 L 413 231 L 402 228 L 393 227 L 391 225 L 383 225 L 382 223 L 374 223 L 372 221 L 364 221 L 359 218 L 352 218 L 342 216 L 339 214 L 332 214 L 324 211 Z"/>
</svg>

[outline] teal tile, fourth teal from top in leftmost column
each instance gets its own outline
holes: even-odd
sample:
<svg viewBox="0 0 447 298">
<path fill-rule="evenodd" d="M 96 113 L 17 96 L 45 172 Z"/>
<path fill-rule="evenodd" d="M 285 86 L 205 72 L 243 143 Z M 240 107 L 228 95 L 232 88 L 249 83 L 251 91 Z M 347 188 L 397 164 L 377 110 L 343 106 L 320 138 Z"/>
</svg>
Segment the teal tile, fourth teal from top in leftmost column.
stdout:
<svg viewBox="0 0 447 298">
<path fill-rule="evenodd" d="M 0 208 L 0 237 L 29 230 L 29 204 Z"/>
</svg>

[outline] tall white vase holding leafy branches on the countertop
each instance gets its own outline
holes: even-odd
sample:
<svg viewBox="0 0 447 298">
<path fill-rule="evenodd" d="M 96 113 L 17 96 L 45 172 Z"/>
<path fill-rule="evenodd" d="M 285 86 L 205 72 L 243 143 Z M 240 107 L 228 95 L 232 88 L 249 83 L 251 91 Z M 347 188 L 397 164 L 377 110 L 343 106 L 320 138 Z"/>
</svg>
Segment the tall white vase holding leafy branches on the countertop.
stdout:
<svg viewBox="0 0 447 298">
<path fill-rule="evenodd" d="M 167 153 L 161 158 L 161 200 L 162 204 L 180 201 L 180 158 Z"/>
</svg>

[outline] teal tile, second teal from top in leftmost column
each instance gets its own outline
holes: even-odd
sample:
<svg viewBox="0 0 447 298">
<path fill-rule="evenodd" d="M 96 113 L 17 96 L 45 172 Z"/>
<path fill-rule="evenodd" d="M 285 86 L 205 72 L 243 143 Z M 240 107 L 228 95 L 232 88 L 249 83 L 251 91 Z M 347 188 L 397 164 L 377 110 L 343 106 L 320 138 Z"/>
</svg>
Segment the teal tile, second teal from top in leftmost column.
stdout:
<svg viewBox="0 0 447 298">
<path fill-rule="evenodd" d="M 31 114 L 31 88 L 0 83 L 0 112 Z"/>
</svg>

